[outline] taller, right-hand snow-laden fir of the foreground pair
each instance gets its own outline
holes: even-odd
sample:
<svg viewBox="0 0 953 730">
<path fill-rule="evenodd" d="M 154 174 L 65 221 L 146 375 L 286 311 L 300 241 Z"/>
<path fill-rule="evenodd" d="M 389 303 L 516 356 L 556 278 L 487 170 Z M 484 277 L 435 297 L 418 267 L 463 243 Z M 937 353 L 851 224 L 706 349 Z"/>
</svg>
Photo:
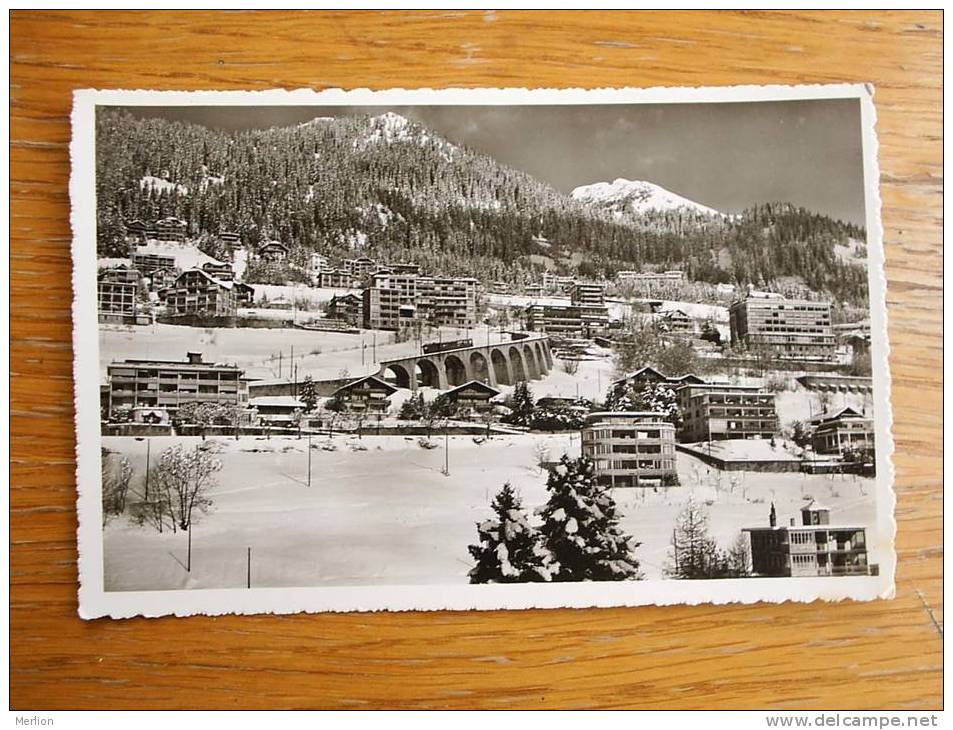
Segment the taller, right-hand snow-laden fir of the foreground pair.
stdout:
<svg viewBox="0 0 953 730">
<path fill-rule="evenodd" d="M 641 544 L 619 526 L 616 503 L 596 483 L 592 461 L 563 454 L 546 484 L 549 501 L 540 532 L 552 555 L 556 581 L 639 580 Z"/>
</svg>

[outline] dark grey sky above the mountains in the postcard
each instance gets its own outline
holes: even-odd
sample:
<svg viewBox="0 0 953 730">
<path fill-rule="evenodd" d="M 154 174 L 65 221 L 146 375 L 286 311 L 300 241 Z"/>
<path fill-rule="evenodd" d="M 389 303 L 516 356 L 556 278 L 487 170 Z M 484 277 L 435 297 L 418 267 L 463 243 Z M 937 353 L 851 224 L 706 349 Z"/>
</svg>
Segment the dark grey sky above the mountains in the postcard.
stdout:
<svg viewBox="0 0 953 730">
<path fill-rule="evenodd" d="M 857 99 L 561 106 L 138 107 L 224 130 L 394 111 L 564 192 L 648 180 L 724 213 L 785 201 L 864 224 Z"/>
</svg>

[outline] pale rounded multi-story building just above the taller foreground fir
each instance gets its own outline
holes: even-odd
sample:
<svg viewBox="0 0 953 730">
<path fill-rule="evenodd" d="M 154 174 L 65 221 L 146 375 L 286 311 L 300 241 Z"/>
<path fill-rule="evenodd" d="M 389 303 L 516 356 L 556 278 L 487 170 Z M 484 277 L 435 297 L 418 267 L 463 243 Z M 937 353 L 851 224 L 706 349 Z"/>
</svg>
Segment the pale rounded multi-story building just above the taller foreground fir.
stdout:
<svg viewBox="0 0 953 730">
<path fill-rule="evenodd" d="M 582 427 L 582 455 L 596 480 L 609 487 L 674 485 L 675 426 L 661 413 L 590 413 Z"/>
</svg>

